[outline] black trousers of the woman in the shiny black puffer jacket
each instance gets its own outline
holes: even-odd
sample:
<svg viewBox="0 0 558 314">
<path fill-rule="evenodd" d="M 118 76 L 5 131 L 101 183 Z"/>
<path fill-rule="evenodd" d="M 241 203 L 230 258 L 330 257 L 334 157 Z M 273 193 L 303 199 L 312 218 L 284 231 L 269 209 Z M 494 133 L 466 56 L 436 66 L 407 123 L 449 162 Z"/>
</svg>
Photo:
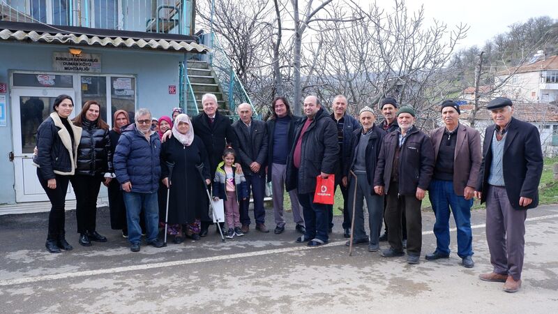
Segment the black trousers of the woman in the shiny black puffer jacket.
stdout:
<svg viewBox="0 0 558 314">
<path fill-rule="evenodd" d="M 95 176 L 76 174 L 72 178 L 76 200 L 77 233 L 93 232 L 96 229 L 97 197 L 102 180 L 101 174 Z"/>
</svg>

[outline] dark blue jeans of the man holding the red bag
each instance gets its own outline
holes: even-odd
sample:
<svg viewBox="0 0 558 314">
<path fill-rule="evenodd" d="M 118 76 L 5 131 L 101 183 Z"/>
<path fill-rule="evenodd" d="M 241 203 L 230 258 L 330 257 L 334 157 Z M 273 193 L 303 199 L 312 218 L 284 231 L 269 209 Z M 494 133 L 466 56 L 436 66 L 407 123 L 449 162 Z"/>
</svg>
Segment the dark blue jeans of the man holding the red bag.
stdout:
<svg viewBox="0 0 558 314">
<path fill-rule="evenodd" d="M 328 207 L 326 204 L 316 204 L 314 193 L 299 194 L 299 202 L 302 206 L 304 224 L 306 225 L 305 239 L 328 240 Z"/>
</svg>

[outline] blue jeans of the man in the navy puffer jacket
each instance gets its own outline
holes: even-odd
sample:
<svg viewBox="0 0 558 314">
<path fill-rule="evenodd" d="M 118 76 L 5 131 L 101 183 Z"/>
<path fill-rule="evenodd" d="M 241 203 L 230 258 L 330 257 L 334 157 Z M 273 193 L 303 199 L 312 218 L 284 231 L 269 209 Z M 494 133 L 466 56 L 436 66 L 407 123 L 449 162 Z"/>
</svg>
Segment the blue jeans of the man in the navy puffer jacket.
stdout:
<svg viewBox="0 0 558 314">
<path fill-rule="evenodd" d="M 140 227 L 140 213 L 142 212 L 142 208 L 144 209 L 145 215 L 147 242 L 155 241 L 159 234 L 159 205 L 157 202 L 157 192 L 124 192 L 124 204 L 126 204 L 128 241 L 130 241 L 130 244 L 140 243 L 142 241 L 142 227 Z"/>
</svg>

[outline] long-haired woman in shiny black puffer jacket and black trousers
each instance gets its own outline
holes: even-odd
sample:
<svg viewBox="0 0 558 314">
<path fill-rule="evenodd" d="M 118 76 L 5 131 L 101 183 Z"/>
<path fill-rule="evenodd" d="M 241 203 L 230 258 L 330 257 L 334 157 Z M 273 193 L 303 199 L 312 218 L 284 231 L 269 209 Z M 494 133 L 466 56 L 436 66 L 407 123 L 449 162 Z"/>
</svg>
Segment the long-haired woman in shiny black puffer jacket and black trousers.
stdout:
<svg viewBox="0 0 558 314">
<path fill-rule="evenodd" d="M 101 181 L 107 186 L 112 179 L 112 148 L 109 126 L 99 114 L 100 105 L 96 100 L 89 100 L 74 119 L 74 124 L 83 129 L 77 147 L 75 176 L 71 180 L 77 201 L 77 232 L 82 246 L 91 246 L 91 241 L 107 241 L 96 231 L 97 197 Z"/>
</svg>

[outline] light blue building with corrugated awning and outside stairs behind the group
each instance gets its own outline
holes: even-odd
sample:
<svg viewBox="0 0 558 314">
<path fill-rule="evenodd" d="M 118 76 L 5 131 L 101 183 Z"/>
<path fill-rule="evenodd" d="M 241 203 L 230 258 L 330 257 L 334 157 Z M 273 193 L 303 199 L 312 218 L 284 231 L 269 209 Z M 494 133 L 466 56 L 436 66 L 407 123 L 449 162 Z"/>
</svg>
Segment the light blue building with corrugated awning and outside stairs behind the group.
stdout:
<svg viewBox="0 0 558 314">
<path fill-rule="evenodd" d="M 225 114 L 249 101 L 234 75 L 217 75 L 224 58 L 205 57 L 213 50 L 203 40 L 213 36 L 195 36 L 194 6 L 194 0 L 0 0 L 0 156 L 6 156 L 0 204 L 47 200 L 31 158 L 37 127 L 60 94 L 73 97 L 72 117 L 86 100 L 98 100 L 109 125 L 120 109 L 133 117 L 147 107 L 160 117 L 180 106 L 193 116 L 208 92 Z"/>
</svg>

